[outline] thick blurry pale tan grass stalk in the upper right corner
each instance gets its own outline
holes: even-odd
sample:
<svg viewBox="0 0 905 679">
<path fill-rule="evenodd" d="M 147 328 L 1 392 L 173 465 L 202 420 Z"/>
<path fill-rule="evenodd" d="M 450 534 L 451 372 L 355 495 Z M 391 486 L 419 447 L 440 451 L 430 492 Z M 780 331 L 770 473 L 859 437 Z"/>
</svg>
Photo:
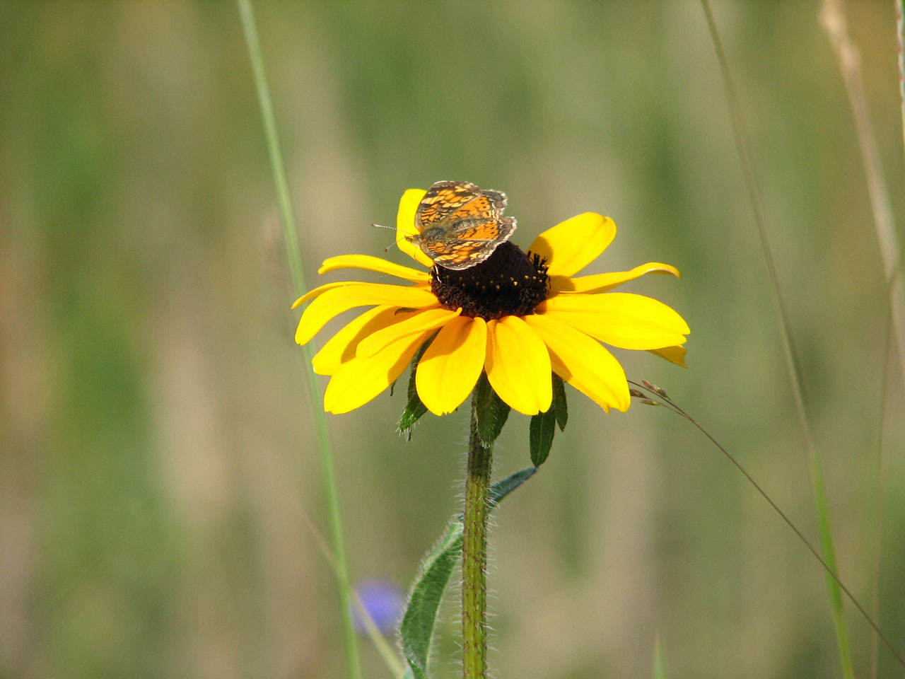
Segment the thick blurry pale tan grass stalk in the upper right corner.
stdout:
<svg viewBox="0 0 905 679">
<path fill-rule="evenodd" d="M 852 107 L 854 128 L 861 149 L 864 177 L 867 179 L 868 196 L 871 198 L 873 225 L 880 244 L 883 273 L 889 287 L 892 327 L 895 330 L 896 346 L 899 349 L 899 363 L 902 378 L 905 379 L 905 275 L 902 273 L 901 251 L 896 228 L 892 218 L 890 193 L 883 178 L 880 151 L 873 134 L 871 114 L 867 108 L 864 84 L 861 77 L 861 55 L 849 37 L 848 22 L 843 12 L 842 0 L 824 0 L 820 9 L 820 23 L 824 26 L 839 72 L 842 74 L 849 105 Z M 899 23 L 901 31 L 901 21 Z M 901 36 L 901 33 L 899 33 Z M 901 37 L 900 37 L 901 40 Z M 899 43 L 899 68 L 902 69 L 901 43 Z M 901 81 L 900 81 L 901 91 Z M 905 116 L 905 109 L 903 109 Z M 905 122 L 905 118 L 903 118 Z M 903 128 L 905 130 L 905 128 Z M 903 131 L 905 135 L 905 131 Z M 903 142 L 905 143 L 905 142 Z"/>
</svg>

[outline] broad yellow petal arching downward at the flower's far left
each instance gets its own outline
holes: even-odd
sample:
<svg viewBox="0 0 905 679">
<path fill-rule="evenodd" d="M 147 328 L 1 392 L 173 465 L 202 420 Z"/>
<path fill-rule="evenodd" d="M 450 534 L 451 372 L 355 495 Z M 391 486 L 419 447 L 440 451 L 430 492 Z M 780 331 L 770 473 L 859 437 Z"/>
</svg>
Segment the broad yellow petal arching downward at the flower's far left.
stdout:
<svg viewBox="0 0 905 679">
<path fill-rule="evenodd" d="M 358 283 L 328 290 L 308 305 L 301 314 L 295 340 L 299 344 L 310 341 L 331 319 L 355 307 L 387 306 L 423 309 L 437 303 L 437 298 L 424 287 L 389 285 L 387 283 Z M 674 344 L 675 342 L 673 342 Z"/>
</svg>

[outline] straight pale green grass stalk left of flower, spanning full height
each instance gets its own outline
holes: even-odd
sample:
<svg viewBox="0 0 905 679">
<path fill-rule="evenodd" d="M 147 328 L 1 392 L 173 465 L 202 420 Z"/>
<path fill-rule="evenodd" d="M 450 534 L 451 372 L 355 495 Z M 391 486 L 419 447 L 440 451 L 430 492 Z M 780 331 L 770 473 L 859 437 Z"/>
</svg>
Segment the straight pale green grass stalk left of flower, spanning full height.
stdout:
<svg viewBox="0 0 905 679">
<path fill-rule="evenodd" d="M 280 138 L 277 134 L 276 119 L 273 115 L 273 103 L 270 87 L 267 84 L 267 74 L 264 71 L 264 61 L 261 50 L 261 41 L 258 37 L 258 28 L 254 20 L 254 10 L 251 0 L 236 0 L 239 5 L 239 14 L 242 16 L 245 42 L 248 44 L 248 55 L 252 63 L 254 86 L 258 95 L 258 104 L 261 107 L 261 118 L 264 128 L 264 136 L 267 139 L 267 151 L 271 159 L 271 171 L 276 184 L 277 198 L 280 204 L 283 241 L 286 244 L 286 256 L 289 260 L 292 287 L 295 293 L 301 296 L 305 292 L 305 272 L 301 261 L 299 238 L 297 235 L 292 200 L 289 191 L 289 182 L 286 178 L 286 168 L 283 164 L 280 151 Z M 307 359 L 307 366 L 311 364 L 312 349 L 310 343 L 303 348 Z M 314 372 L 303 369 L 308 379 L 309 402 L 317 403 L 320 397 L 320 386 Z M 360 679 L 361 665 L 358 659 L 358 646 L 355 636 L 355 627 L 352 625 L 352 590 L 348 578 L 348 559 L 346 557 L 346 541 L 342 530 L 342 517 L 339 512 L 339 496 L 336 483 L 336 473 L 333 464 L 333 446 L 330 441 L 327 416 L 317 408 L 311 407 L 311 415 L 314 419 L 315 430 L 318 439 L 318 452 L 320 457 L 320 469 L 323 478 L 324 490 L 327 496 L 327 511 L 330 521 L 330 534 L 332 540 L 332 553 L 334 571 L 337 577 L 339 609 L 342 618 L 343 637 L 345 640 L 346 662 L 348 676 L 351 679 Z"/>
</svg>

